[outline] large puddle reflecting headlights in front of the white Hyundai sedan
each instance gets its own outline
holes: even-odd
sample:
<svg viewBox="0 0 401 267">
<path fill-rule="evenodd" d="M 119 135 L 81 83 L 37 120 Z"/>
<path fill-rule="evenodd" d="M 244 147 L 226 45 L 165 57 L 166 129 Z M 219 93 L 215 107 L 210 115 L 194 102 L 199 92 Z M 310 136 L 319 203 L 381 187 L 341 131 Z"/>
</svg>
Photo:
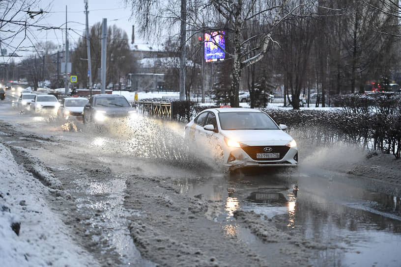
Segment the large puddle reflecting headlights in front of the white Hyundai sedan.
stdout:
<svg viewBox="0 0 401 267">
<path fill-rule="evenodd" d="M 236 224 L 236 210 L 262 214 L 290 235 L 327 245 L 310 260 L 313 266 L 401 266 L 400 197 L 366 191 L 344 178 L 333 182 L 298 175 L 210 177 L 178 186 L 181 192 L 221 201 L 220 210 L 211 207 L 210 219 L 252 247 L 260 241 Z"/>
</svg>

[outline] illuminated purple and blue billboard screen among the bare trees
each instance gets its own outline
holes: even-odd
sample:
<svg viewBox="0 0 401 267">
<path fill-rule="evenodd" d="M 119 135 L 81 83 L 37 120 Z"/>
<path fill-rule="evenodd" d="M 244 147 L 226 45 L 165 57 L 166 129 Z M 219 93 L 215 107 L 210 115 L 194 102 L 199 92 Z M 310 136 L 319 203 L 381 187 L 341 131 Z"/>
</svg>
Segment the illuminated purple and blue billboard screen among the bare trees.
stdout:
<svg viewBox="0 0 401 267">
<path fill-rule="evenodd" d="M 226 53 L 224 31 L 205 33 L 204 35 L 204 58 L 206 62 L 223 61 Z"/>
</svg>

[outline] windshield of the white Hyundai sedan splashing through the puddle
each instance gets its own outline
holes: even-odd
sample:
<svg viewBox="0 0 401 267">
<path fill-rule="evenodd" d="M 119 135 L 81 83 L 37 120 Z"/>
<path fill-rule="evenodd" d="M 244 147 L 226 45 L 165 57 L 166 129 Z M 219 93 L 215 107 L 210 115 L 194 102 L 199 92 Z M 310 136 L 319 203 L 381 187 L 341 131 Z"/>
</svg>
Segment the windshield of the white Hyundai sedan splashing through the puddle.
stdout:
<svg viewBox="0 0 401 267">
<path fill-rule="evenodd" d="M 276 123 L 263 112 L 220 112 L 222 130 L 278 130 Z"/>
</svg>

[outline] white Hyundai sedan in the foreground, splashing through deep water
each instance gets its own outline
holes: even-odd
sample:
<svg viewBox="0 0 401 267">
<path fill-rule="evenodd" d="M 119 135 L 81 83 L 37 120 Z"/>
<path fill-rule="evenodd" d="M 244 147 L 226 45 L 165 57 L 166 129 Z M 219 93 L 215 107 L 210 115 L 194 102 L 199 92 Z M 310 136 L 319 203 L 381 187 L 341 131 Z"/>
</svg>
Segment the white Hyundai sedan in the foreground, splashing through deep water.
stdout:
<svg viewBox="0 0 401 267">
<path fill-rule="evenodd" d="M 211 146 L 211 154 L 230 170 L 297 166 L 297 144 L 286 128 L 258 109 L 209 108 L 185 126 L 184 138 Z"/>
</svg>

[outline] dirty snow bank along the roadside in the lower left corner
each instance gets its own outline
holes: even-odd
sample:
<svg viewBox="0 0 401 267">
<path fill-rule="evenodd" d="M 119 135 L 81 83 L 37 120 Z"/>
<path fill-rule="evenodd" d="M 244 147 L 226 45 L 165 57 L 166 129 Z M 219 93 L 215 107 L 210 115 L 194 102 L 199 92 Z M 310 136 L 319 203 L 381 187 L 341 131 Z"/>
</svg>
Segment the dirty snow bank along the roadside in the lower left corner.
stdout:
<svg viewBox="0 0 401 267">
<path fill-rule="evenodd" d="M 0 166 L 0 266 L 99 266 L 50 209 L 45 198 L 55 190 L 18 165 L 2 144 Z"/>
</svg>

